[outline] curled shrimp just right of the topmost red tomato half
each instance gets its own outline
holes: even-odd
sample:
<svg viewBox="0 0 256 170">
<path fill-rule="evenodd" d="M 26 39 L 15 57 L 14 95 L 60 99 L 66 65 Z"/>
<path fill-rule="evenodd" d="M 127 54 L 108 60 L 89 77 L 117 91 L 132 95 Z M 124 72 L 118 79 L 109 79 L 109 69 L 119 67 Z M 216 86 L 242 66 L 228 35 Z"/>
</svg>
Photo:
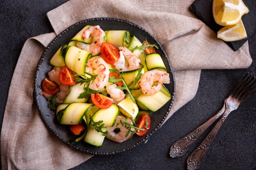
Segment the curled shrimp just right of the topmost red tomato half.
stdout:
<svg viewBox="0 0 256 170">
<path fill-rule="evenodd" d="M 123 72 L 125 72 L 140 68 L 140 59 L 135 54 L 133 54 L 126 47 L 119 47 L 118 49 L 120 50 L 120 57 L 113 64 L 115 69 L 122 70 Z M 128 63 L 126 63 L 125 60 L 127 60 Z"/>
</svg>

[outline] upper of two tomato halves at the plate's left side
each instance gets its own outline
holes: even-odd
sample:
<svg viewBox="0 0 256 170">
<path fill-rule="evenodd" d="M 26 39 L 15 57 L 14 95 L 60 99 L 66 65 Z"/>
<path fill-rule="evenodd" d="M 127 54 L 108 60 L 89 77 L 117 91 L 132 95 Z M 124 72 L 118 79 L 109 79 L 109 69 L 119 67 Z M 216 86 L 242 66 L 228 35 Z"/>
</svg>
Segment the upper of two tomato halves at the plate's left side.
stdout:
<svg viewBox="0 0 256 170">
<path fill-rule="evenodd" d="M 63 85 L 75 85 L 76 79 L 73 76 L 74 74 L 72 73 L 72 71 L 67 68 L 67 66 L 64 66 L 63 68 L 61 68 L 60 74 L 58 75 L 58 80 Z"/>
</svg>

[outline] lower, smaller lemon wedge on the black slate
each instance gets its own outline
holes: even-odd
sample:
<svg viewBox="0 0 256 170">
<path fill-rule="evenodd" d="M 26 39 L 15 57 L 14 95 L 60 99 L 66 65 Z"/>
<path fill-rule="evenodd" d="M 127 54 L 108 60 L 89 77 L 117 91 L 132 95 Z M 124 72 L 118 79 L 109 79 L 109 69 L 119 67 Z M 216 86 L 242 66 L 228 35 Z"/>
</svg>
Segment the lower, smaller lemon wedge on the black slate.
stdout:
<svg viewBox="0 0 256 170">
<path fill-rule="evenodd" d="M 242 20 L 235 25 L 224 26 L 218 31 L 218 38 L 224 41 L 237 41 L 246 37 L 247 34 Z"/>
</svg>

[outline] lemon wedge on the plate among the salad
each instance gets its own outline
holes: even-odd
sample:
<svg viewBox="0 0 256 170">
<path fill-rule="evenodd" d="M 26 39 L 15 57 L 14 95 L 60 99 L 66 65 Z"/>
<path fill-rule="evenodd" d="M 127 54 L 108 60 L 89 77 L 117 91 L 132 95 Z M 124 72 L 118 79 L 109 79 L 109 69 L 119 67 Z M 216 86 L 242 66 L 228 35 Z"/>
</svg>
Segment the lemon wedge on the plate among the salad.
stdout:
<svg viewBox="0 0 256 170">
<path fill-rule="evenodd" d="M 132 117 L 135 119 L 139 112 L 138 106 L 136 103 L 132 102 L 129 97 L 119 102 L 117 106 L 119 107 L 121 113 L 128 118 Z"/>
</svg>

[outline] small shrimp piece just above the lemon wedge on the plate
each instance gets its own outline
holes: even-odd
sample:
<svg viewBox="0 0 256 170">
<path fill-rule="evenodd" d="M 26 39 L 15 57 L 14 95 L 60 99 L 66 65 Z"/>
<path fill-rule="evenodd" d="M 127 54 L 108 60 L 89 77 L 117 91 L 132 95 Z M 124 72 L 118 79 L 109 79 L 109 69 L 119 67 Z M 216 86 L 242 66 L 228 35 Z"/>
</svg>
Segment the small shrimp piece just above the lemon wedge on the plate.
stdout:
<svg viewBox="0 0 256 170">
<path fill-rule="evenodd" d="M 116 104 L 124 100 L 125 94 L 121 89 L 117 89 L 116 84 L 108 85 L 106 89 L 108 94 L 110 94 L 110 98 L 112 98 Z"/>
</svg>

